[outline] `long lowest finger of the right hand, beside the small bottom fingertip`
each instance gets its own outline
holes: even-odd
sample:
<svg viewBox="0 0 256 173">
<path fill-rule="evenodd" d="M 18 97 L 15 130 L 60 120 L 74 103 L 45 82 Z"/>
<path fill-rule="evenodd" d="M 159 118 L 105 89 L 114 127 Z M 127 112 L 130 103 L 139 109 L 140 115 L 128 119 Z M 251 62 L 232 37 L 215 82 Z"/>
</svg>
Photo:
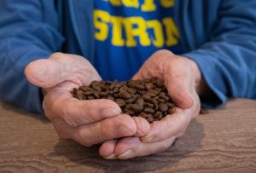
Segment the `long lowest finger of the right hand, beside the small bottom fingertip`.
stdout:
<svg viewBox="0 0 256 173">
<path fill-rule="evenodd" d="M 165 151 L 172 146 L 175 137 L 154 143 L 143 143 L 138 137 L 125 137 L 115 147 L 114 153 L 118 159 L 131 159 L 139 156 L 147 156 L 153 153 Z"/>
</svg>

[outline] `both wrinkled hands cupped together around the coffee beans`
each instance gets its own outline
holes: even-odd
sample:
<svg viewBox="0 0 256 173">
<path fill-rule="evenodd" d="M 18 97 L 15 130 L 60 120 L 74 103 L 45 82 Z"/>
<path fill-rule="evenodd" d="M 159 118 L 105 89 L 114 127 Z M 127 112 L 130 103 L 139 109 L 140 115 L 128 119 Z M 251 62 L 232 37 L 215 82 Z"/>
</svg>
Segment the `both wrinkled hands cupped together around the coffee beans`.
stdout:
<svg viewBox="0 0 256 173">
<path fill-rule="evenodd" d="M 168 50 L 154 53 L 133 77 L 160 78 L 177 105 L 175 114 L 153 124 L 120 114 L 113 101 L 73 98 L 70 90 L 74 87 L 101 79 L 90 62 L 79 55 L 55 53 L 48 60 L 30 63 L 25 74 L 29 82 L 47 91 L 44 112 L 58 135 L 84 146 L 102 143 L 100 154 L 106 159 L 130 159 L 166 150 L 200 110 L 198 66 Z"/>
</svg>

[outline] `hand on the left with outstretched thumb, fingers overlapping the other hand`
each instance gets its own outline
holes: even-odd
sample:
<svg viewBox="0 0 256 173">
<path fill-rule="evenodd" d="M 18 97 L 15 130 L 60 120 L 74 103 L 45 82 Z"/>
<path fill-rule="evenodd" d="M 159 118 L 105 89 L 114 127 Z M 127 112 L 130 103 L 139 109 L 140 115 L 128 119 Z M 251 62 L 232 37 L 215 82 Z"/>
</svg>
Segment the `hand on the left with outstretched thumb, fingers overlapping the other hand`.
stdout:
<svg viewBox="0 0 256 173">
<path fill-rule="evenodd" d="M 30 83 L 47 91 L 44 113 L 61 138 L 90 146 L 119 137 L 148 134 L 150 126 L 144 118 L 120 114 L 113 101 L 73 98 L 73 88 L 101 80 L 90 62 L 79 55 L 55 53 L 47 60 L 32 61 L 25 74 Z"/>
</svg>

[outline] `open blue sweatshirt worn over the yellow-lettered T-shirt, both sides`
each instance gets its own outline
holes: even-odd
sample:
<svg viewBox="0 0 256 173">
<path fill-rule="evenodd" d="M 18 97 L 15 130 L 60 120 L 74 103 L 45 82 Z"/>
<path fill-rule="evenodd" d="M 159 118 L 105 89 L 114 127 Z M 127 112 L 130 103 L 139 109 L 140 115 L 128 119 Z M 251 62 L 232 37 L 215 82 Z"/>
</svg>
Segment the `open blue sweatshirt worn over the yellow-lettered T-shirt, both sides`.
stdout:
<svg viewBox="0 0 256 173">
<path fill-rule="evenodd" d="M 229 97 L 256 98 L 256 1 L 177 0 L 174 20 L 183 56 L 194 60 L 217 107 Z M 0 99 L 41 112 L 40 89 L 26 65 L 56 51 L 94 56 L 93 1 L 0 1 Z"/>
</svg>

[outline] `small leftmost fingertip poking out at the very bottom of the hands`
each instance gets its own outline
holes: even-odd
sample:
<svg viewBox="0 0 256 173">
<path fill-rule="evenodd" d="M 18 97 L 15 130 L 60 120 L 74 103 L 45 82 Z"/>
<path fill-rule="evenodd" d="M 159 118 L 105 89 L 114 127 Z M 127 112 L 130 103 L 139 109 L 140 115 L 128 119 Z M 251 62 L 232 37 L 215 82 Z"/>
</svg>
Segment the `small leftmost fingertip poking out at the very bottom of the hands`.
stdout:
<svg viewBox="0 0 256 173">
<path fill-rule="evenodd" d="M 99 149 L 100 155 L 104 159 L 117 159 L 114 153 L 114 148 L 118 140 L 105 141 Z"/>
</svg>

